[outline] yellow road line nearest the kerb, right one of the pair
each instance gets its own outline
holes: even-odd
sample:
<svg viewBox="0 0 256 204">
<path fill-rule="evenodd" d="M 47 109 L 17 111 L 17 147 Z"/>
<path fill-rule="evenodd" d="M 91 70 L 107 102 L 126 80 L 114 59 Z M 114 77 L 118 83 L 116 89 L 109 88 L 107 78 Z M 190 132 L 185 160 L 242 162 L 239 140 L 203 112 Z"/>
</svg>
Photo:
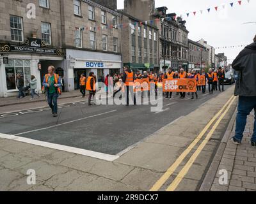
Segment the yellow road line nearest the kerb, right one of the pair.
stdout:
<svg viewBox="0 0 256 204">
<path fill-rule="evenodd" d="M 216 121 L 216 124 L 214 124 L 214 126 L 211 129 L 211 131 L 209 131 L 209 133 L 205 137 L 205 140 L 199 145 L 198 149 L 196 149 L 194 154 L 190 157 L 188 163 L 186 163 L 184 168 L 182 168 L 182 170 L 179 172 L 177 177 L 173 180 L 172 184 L 170 184 L 170 186 L 166 189 L 166 191 L 175 191 L 177 186 L 179 186 L 179 184 L 182 181 L 182 179 L 184 178 L 184 176 L 188 173 L 189 168 L 191 168 L 192 164 L 195 162 L 195 160 L 198 157 L 198 155 L 200 154 L 200 152 L 204 149 L 204 147 L 207 144 L 207 142 L 209 142 L 212 134 L 214 133 L 216 128 L 218 128 L 218 125 L 220 124 L 220 122 L 223 119 L 223 117 L 227 114 L 228 110 L 230 109 L 230 106 L 232 105 L 232 103 L 234 102 L 235 99 L 236 98 L 232 99 L 230 105 L 228 105 L 228 107 L 225 110 L 225 112 L 222 113 L 221 117 Z"/>
</svg>

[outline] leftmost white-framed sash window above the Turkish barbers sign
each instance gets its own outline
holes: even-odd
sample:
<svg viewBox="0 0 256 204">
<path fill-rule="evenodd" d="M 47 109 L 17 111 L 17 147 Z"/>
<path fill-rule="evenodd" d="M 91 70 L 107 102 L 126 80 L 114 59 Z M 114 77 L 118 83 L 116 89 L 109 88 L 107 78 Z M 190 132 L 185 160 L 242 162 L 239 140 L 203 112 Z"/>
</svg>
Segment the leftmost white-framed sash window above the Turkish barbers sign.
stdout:
<svg viewBox="0 0 256 204">
<path fill-rule="evenodd" d="M 11 15 L 10 27 L 11 27 L 12 41 L 23 41 L 22 18 Z"/>
</svg>

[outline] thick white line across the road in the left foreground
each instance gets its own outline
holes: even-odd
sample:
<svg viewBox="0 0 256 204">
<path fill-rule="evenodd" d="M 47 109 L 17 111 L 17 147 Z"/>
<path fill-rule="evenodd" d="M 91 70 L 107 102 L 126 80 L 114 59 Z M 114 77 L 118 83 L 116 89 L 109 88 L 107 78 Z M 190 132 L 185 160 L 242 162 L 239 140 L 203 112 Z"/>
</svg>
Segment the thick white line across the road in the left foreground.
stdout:
<svg viewBox="0 0 256 204">
<path fill-rule="evenodd" d="M 91 150 L 84 150 L 84 149 L 79 149 L 76 147 L 68 147 L 65 145 L 58 145 L 58 144 L 49 143 L 49 142 L 42 142 L 42 141 L 32 140 L 29 138 L 23 138 L 23 137 L 15 136 L 15 135 L 6 135 L 6 134 L 0 133 L 0 138 L 14 140 L 17 142 L 29 143 L 32 145 L 38 145 L 41 147 L 47 147 L 47 148 L 61 150 L 61 151 L 70 152 L 70 153 L 74 153 L 74 154 L 80 154 L 83 156 L 94 157 L 94 158 L 103 159 L 106 161 L 114 161 L 115 159 L 119 158 L 119 156 L 117 156 L 117 155 L 115 156 L 115 155 L 104 154 L 104 153 L 100 153 L 100 152 L 93 152 Z"/>
</svg>

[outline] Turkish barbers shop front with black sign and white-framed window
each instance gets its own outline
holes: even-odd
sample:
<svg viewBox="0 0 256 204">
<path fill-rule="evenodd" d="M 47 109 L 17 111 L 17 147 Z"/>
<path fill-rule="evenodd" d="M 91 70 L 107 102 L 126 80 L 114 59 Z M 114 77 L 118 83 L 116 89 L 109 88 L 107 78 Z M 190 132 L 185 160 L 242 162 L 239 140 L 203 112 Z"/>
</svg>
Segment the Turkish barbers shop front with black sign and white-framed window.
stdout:
<svg viewBox="0 0 256 204">
<path fill-rule="evenodd" d="M 0 54 L 0 97 L 17 96 L 18 74 L 24 78 L 24 87 L 29 86 L 31 75 L 34 75 L 38 87 L 36 92 L 40 92 L 42 75 L 47 71 L 40 61 L 47 61 L 53 66 L 62 66 L 63 62 L 62 50 L 45 47 L 40 39 L 34 38 L 17 45 L 0 45 Z"/>
</svg>

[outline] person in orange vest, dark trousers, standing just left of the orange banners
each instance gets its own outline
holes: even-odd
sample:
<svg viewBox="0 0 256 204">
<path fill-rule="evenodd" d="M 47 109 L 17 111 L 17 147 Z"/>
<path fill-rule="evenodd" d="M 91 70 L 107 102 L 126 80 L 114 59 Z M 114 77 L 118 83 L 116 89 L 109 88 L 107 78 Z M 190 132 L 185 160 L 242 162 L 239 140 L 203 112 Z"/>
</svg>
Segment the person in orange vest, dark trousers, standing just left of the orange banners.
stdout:
<svg viewBox="0 0 256 204">
<path fill-rule="evenodd" d="M 133 91 L 134 75 L 131 69 L 129 69 L 127 66 L 124 67 L 124 77 L 122 80 L 126 87 L 126 106 L 129 106 L 129 90 L 131 89 L 131 91 Z M 135 94 L 133 96 L 133 103 L 136 105 Z"/>
</svg>

